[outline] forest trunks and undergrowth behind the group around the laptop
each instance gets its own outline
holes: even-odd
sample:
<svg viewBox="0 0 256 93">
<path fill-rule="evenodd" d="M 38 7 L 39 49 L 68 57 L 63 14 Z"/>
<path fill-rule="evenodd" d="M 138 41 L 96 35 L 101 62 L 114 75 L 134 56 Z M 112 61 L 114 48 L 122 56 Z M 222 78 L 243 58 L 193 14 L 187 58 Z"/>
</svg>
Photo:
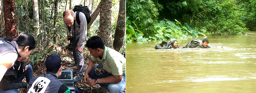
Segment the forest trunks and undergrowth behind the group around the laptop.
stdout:
<svg viewBox="0 0 256 93">
<path fill-rule="evenodd" d="M 98 35 L 105 46 L 125 57 L 125 0 L 0 0 L 0 37 L 15 40 L 21 33 L 28 33 L 36 41 L 36 48 L 27 60 L 32 65 L 33 77 L 46 73 L 44 62 L 52 54 L 61 57 L 62 69 L 74 69 L 75 73 L 76 66 L 69 67 L 75 60 L 72 50 L 68 50 L 70 42 L 62 17 L 63 11 L 72 10 L 77 5 L 87 6 L 90 10 L 86 41 Z M 86 47 L 83 56 L 85 68 L 92 58 Z M 75 85 L 86 93 L 99 92 L 94 89 L 96 86 L 90 87 L 84 81 Z M 18 90 L 27 93 L 26 88 Z"/>
</svg>

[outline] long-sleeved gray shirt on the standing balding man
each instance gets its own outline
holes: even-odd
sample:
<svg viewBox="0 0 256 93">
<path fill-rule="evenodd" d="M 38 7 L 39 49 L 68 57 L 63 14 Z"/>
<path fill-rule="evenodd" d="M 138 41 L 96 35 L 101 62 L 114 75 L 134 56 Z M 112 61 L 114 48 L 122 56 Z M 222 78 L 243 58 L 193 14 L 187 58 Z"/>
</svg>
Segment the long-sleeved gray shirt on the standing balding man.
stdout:
<svg viewBox="0 0 256 93">
<path fill-rule="evenodd" d="M 76 12 L 75 12 L 75 16 L 76 16 Z M 64 26 L 66 27 L 66 30 L 67 30 L 66 33 L 68 35 L 70 35 L 68 25 L 65 23 L 65 20 L 63 17 L 62 17 L 62 19 L 64 22 Z M 72 36 L 75 36 L 75 39 L 78 39 L 80 37 L 79 41 L 77 43 L 77 46 L 82 46 L 83 44 L 85 44 L 85 39 L 86 39 L 86 35 L 87 35 L 87 21 L 86 21 L 86 17 L 84 15 L 84 13 L 82 13 L 82 12 L 79 13 L 79 19 L 80 19 L 80 24 L 77 24 L 76 20 L 74 20 L 75 32 L 74 32 L 74 26 L 72 26 L 71 33 L 72 33 Z"/>
</svg>

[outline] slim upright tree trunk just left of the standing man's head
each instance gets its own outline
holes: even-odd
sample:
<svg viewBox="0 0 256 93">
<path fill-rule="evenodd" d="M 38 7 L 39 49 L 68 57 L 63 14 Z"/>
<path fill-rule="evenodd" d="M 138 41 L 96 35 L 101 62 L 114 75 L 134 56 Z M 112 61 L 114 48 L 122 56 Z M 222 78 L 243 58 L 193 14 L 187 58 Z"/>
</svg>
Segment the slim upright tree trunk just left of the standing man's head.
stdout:
<svg viewBox="0 0 256 93">
<path fill-rule="evenodd" d="M 55 27 L 55 30 L 54 31 L 54 35 L 53 35 L 53 43 L 56 44 L 57 42 L 57 19 L 58 19 L 58 0 L 55 0 L 55 5 L 54 5 L 54 27 Z"/>
</svg>

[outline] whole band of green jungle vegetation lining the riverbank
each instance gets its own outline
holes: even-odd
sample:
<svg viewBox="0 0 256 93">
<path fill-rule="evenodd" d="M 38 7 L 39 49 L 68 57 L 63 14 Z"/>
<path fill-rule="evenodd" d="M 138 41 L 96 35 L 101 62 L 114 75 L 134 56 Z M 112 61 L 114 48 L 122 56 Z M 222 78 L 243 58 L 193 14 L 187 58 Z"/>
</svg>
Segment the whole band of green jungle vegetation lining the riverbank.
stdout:
<svg viewBox="0 0 256 93">
<path fill-rule="evenodd" d="M 256 31 L 256 0 L 127 0 L 126 42 Z"/>
</svg>

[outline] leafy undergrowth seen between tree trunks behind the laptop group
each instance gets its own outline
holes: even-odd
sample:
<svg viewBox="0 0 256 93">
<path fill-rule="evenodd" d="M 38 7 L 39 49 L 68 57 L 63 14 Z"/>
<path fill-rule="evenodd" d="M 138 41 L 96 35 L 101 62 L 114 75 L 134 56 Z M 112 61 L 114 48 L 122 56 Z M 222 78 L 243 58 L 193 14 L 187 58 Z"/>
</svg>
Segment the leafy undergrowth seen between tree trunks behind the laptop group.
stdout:
<svg viewBox="0 0 256 93">
<path fill-rule="evenodd" d="M 54 2 L 58 3 L 58 11 L 57 13 L 54 12 Z M 62 14 L 63 11 L 69 9 L 69 2 L 66 0 L 45 0 L 44 1 L 44 8 L 45 8 L 45 23 L 46 23 L 46 39 L 47 42 L 42 42 L 43 38 L 43 1 L 38 0 L 38 10 L 39 10 L 39 35 L 36 36 L 37 41 L 37 47 L 34 49 L 32 54 L 29 56 L 30 61 L 34 65 L 35 63 L 44 61 L 46 59 L 47 55 L 50 54 L 59 54 L 57 52 L 58 49 L 54 46 L 57 44 L 59 47 L 65 48 L 69 41 L 66 40 L 67 34 L 66 34 L 66 28 L 64 26 L 63 20 L 62 20 Z M 73 0 L 72 8 L 74 8 L 75 5 L 84 5 L 85 0 Z M 67 2 L 67 5 L 66 5 Z M 29 33 L 33 35 L 35 32 L 33 30 L 33 4 L 32 1 L 29 0 L 14 0 L 15 3 L 15 20 L 17 23 L 17 31 L 18 33 Z M 85 6 L 88 6 L 89 9 L 93 11 L 96 9 L 98 4 L 100 3 L 100 0 L 86 0 Z M 112 1 L 112 22 L 111 22 L 111 31 L 112 31 L 112 40 L 115 36 L 115 29 L 117 26 L 117 17 L 118 17 L 118 9 L 119 9 L 119 0 L 113 0 Z M 57 15 L 57 23 L 56 26 L 54 25 L 54 19 L 55 15 Z M 5 38 L 5 30 L 4 28 L 0 31 L 0 37 Z M 90 28 L 88 28 L 88 34 L 87 34 L 87 40 L 89 37 L 98 35 L 99 34 L 99 15 L 97 16 L 96 20 L 92 24 Z M 53 37 L 57 37 L 57 42 L 53 44 Z M 44 44 L 46 43 L 46 44 Z M 47 45 L 47 46 L 43 46 Z M 53 47 L 54 46 L 54 47 Z M 89 55 L 89 52 L 87 48 L 84 48 L 84 55 Z M 123 43 L 121 54 L 125 55 L 125 41 Z M 69 57 L 71 60 L 73 60 L 73 56 L 63 56 L 63 57 Z"/>
</svg>

